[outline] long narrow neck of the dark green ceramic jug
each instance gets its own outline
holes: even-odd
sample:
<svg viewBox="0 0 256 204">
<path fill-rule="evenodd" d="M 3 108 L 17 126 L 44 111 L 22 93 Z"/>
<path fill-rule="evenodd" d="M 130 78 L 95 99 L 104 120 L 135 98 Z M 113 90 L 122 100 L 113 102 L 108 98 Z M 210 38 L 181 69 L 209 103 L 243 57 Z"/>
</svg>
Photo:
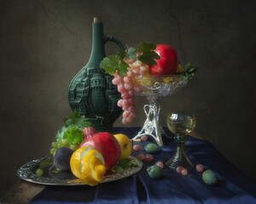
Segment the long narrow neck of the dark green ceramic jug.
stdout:
<svg viewBox="0 0 256 204">
<path fill-rule="evenodd" d="M 103 23 L 95 20 L 92 23 L 92 44 L 89 63 L 100 63 L 106 56 L 103 37 Z"/>
</svg>

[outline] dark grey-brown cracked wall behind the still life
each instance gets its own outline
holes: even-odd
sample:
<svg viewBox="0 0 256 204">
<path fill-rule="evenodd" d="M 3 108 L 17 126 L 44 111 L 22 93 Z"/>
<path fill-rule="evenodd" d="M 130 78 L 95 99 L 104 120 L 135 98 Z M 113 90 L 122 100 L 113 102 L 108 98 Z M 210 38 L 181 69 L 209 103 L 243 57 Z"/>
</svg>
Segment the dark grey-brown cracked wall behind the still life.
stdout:
<svg viewBox="0 0 256 204">
<path fill-rule="evenodd" d="M 255 8 L 253 0 L 0 0 L 0 195 L 18 181 L 20 165 L 48 154 L 70 114 L 67 88 L 89 59 L 94 16 L 124 44 L 169 43 L 180 61 L 200 67 L 161 100 L 160 120 L 193 110 L 196 131 L 256 179 Z M 116 50 L 107 45 L 108 54 Z M 130 126 L 145 119 L 139 102 Z"/>
</svg>

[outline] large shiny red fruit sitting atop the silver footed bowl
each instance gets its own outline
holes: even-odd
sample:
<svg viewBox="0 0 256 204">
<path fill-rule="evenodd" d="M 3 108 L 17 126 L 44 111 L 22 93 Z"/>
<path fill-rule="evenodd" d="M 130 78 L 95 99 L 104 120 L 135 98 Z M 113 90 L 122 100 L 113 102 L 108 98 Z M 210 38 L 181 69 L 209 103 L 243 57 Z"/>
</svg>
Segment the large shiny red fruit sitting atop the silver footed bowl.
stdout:
<svg viewBox="0 0 256 204">
<path fill-rule="evenodd" d="M 154 52 L 160 55 L 160 59 L 155 59 L 156 65 L 149 67 L 151 75 L 174 75 L 177 70 L 176 50 L 167 44 L 157 44 Z"/>
</svg>

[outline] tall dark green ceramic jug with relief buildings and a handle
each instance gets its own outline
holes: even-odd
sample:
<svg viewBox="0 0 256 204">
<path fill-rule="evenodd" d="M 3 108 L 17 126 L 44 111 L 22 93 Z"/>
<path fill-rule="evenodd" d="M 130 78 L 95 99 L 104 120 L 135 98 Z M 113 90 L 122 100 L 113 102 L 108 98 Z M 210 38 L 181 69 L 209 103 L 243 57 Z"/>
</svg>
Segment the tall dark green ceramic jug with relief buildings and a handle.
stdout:
<svg viewBox="0 0 256 204">
<path fill-rule="evenodd" d="M 103 24 L 99 18 L 92 23 L 92 48 L 88 63 L 73 77 L 68 88 L 68 101 L 73 111 L 84 115 L 97 131 L 111 132 L 113 122 L 122 113 L 117 106 L 120 94 L 113 85 L 113 77 L 100 68 L 100 63 L 106 57 L 105 43 L 117 43 L 119 49 L 124 49 L 122 42 L 103 33 Z"/>
</svg>

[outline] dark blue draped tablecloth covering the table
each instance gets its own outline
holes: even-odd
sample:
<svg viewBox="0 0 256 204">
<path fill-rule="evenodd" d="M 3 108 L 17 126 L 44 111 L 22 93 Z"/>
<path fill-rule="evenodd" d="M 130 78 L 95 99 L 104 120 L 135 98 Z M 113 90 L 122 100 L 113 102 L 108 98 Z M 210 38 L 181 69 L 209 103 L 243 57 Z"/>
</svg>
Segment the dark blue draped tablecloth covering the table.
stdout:
<svg viewBox="0 0 256 204">
<path fill-rule="evenodd" d="M 165 129 L 166 130 L 166 129 Z M 126 133 L 130 137 L 137 134 L 137 127 L 115 127 L 115 133 Z M 166 133 L 171 134 L 166 130 Z M 214 146 L 203 139 L 188 137 L 187 156 L 194 164 L 201 163 L 218 174 L 217 185 L 207 185 L 201 173 L 195 169 L 187 176 L 165 167 L 164 177 L 149 178 L 146 171 L 155 161 L 167 161 L 174 151 L 172 139 L 154 154 L 154 161 L 143 161 L 143 169 L 131 177 L 94 187 L 46 186 L 30 203 L 232 203 L 256 204 L 256 183 L 226 160 Z M 133 153 L 134 156 L 137 153 Z"/>
</svg>

